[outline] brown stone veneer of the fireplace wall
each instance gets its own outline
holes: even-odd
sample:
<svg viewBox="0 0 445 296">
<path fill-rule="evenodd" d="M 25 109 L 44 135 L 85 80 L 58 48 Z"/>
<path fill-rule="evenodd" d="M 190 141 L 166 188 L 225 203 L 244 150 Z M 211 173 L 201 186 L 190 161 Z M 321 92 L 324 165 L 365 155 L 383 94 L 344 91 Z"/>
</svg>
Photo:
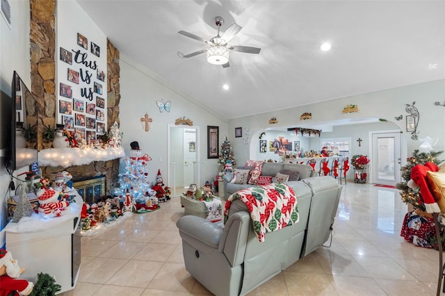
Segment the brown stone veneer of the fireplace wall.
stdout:
<svg viewBox="0 0 445 296">
<path fill-rule="evenodd" d="M 31 5 L 31 91 L 38 100 L 38 142 L 42 149 L 42 130 L 44 126 L 56 126 L 56 0 L 30 0 Z M 120 102 L 120 66 L 119 51 L 107 40 L 107 76 L 108 76 L 108 130 L 119 120 Z M 118 182 L 119 159 L 113 161 L 95 161 L 88 165 L 72 167 L 40 167 L 44 177 L 54 180 L 58 172 L 66 170 L 73 179 L 89 176 L 106 176 L 106 191 Z"/>
</svg>

